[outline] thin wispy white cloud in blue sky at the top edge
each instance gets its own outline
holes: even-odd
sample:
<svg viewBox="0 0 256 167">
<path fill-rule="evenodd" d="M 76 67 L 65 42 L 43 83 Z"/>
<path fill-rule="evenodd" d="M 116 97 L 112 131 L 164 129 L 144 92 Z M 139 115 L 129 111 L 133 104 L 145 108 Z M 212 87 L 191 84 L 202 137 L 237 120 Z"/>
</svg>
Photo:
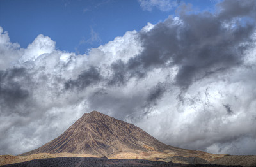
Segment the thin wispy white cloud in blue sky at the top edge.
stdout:
<svg viewBox="0 0 256 167">
<path fill-rule="evenodd" d="M 138 0 L 142 10 L 152 11 L 158 8 L 161 11 L 170 11 L 177 6 L 178 1 L 173 0 Z"/>
</svg>

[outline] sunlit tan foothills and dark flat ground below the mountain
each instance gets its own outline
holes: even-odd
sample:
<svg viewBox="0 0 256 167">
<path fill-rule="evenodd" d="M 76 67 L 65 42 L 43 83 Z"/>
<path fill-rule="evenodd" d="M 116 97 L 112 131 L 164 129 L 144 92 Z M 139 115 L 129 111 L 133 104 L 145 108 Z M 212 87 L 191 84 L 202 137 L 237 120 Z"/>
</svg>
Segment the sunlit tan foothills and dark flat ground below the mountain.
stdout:
<svg viewBox="0 0 256 167">
<path fill-rule="evenodd" d="M 95 156 L 95 155 L 90 155 L 90 154 L 70 154 L 70 153 L 60 153 L 60 154 L 49 154 L 49 153 L 40 153 L 40 154 L 32 154 L 29 156 L 11 156 L 11 155 L 3 155 L 0 156 L 0 165 L 5 165 L 5 164 L 12 164 L 10 166 L 13 166 L 14 163 L 22 163 L 25 161 L 31 161 L 33 159 L 41 159 L 41 160 L 37 160 L 35 162 L 31 162 L 31 163 L 23 163 L 23 164 L 17 164 L 17 166 L 27 166 L 27 165 L 32 165 L 33 163 L 37 163 L 36 166 L 44 166 L 45 161 L 42 159 L 50 159 L 49 161 L 47 160 L 46 162 L 59 162 L 60 161 L 66 161 L 67 159 L 55 159 L 52 160 L 52 158 L 58 158 L 58 157 L 68 157 L 68 159 L 72 159 L 72 161 L 70 161 L 69 163 L 73 162 L 72 164 L 70 164 L 71 166 L 76 166 L 75 164 L 79 163 L 78 160 L 76 159 L 76 157 L 78 157 L 80 159 L 80 157 L 96 157 L 99 158 L 99 156 Z M 71 158 L 72 157 L 72 158 Z M 103 165 L 104 166 L 116 166 L 116 165 L 124 165 L 125 164 L 127 166 L 132 165 L 130 163 L 132 163 L 133 161 L 131 161 L 131 159 L 134 160 L 150 160 L 150 161 L 146 161 L 148 164 L 147 166 L 150 166 L 151 164 L 154 164 L 156 166 L 157 163 L 151 163 L 151 161 L 155 161 L 158 162 L 159 165 L 164 165 L 164 166 L 171 166 L 173 164 L 164 164 L 167 162 L 172 162 L 172 163 L 178 163 L 176 165 L 180 166 L 180 164 L 191 164 L 191 165 L 196 165 L 196 166 L 202 166 L 202 164 L 204 164 L 203 166 L 205 166 L 205 164 L 211 164 L 209 166 L 214 166 L 212 164 L 218 164 L 218 165 L 224 165 L 224 166 L 256 166 L 256 156 L 224 156 L 223 158 L 214 160 L 214 161 L 206 161 L 205 159 L 201 159 L 201 158 L 196 158 L 196 157 L 182 157 L 182 156 L 170 156 L 170 154 L 164 154 L 162 152 L 139 152 L 139 153 L 134 153 L 134 152 L 119 152 L 115 155 L 109 155 L 108 156 L 109 159 L 95 159 L 95 165 Z M 123 159 L 123 160 L 129 160 L 129 161 L 117 161 L 115 159 Z M 80 159 L 81 160 L 81 159 Z M 85 159 L 84 159 L 85 161 Z M 90 162 L 88 163 L 92 163 L 94 160 L 90 159 Z M 57 165 L 57 163 L 53 163 L 52 165 Z M 114 162 L 114 163 L 113 163 Z M 135 161 L 136 162 L 136 161 Z M 143 161 L 140 161 L 143 162 Z M 163 162 L 163 163 L 161 163 Z M 68 164 L 67 162 L 63 162 L 64 164 Z M 60 164 L 63 164 L 60 163 Z M 86 162 L 83 162 L 84 165 L 88 165 L 86 164 Z M 98 164 L 99 163 L 99 164 Z M 201 164 L 201 165 L 200 165 Z M 140 166 L 139 164 L 137 164 L 138 166 Z M 145 166 L 146 164 L 144 164 Z"/>
</svg>

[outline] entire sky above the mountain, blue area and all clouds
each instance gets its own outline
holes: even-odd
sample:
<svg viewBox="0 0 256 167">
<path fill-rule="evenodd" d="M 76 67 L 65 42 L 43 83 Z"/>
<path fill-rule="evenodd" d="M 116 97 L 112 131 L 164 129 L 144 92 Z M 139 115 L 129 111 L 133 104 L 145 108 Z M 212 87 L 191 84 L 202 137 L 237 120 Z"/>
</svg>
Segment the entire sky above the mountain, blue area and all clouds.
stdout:
<svg viewBox="0 0 256 167">
<path fill-rule="evenodd" d="M 0 1 L 0 154 L 97 110 L 161 142 L 256 154 L 256 1 Z"/>
</svg>

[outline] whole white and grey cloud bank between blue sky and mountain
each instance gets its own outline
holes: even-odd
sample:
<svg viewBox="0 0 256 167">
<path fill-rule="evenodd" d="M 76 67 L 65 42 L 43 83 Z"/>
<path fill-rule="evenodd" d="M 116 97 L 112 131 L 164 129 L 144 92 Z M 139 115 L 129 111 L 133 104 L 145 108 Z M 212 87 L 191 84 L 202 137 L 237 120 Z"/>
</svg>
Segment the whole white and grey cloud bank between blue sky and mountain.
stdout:
<svg viewBox="0 0 256 167">
<path fill-rule="evenodd" d="M 255 1 L 223 1 L 127 31 L 88 54 L 0 27 L 0 154 L 20 154 L 98 110 L 169 145 L 256 154 Z"/>
</svg>

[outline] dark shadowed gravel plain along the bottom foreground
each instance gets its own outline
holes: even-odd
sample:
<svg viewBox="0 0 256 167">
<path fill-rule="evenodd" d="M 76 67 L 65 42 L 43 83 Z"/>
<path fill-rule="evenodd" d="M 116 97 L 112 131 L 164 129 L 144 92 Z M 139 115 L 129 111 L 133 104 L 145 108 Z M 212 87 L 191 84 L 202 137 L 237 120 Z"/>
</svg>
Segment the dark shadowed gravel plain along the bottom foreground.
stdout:
<svg viewBox="0 0 256 167">
<path fill-rule="evenodd" d="M 227 167 L 218 164 L 196 164 L 196 165 L 186 165 L 186 164 L 175 164 L 166 163 L 161 161 L 148 161 L 141 159 L 107 159 L 107 158 L 94 158 L 94 157 L 58 157 L 58 158 L 48 158 L 48 159 L 35 159 L 31 161 L 26 161 L 23 163 L 8 164 L 3 167 L 82 167 L 82 166 L 210 166 L 210 167 Z M 230 166 L 232 167 L 232 166 Z M 238 167 L 238 166 L 237 166 Z"/>
</svg>

